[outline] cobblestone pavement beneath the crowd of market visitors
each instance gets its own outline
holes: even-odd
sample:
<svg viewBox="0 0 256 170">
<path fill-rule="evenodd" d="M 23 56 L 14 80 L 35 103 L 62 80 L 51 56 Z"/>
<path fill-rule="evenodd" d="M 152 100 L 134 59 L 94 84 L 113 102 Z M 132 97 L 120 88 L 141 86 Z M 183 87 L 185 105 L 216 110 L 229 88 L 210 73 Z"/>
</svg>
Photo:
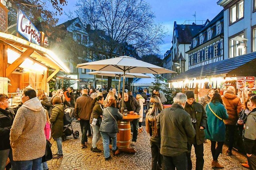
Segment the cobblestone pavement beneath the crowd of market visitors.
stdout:
<svg viewBox="0 0 256 170">
<path fill-rule="evenodd" d="M 80 131 L 80 124 L 72 122 L 72 127 Z M 68 136 L 66 141 L 62 143 L 63 158 L 52 159 L 48 161 L 50 170 L 150 170 L 151 169 L 151 150 L 150 137 L 145 131 L 138 135 L 136 146 L 136 154 L 120 153 L 112 156 L 111 160 L 105 161 L 103 152 L 96 153 L 90 151 L 92 138 L 88 138 L 88 148 L 81 149 L 79 147 L 81 141 L 81 131 L 78 139 Z M 56 142 L 51 139 L 52 152 L 57 151 Z M 102 139 L 97 144 L 98 148 L 103 151 Z M 219 162 L 225 170 L 246 170 L 240 164 L 246 161 L 246 157 L 233 151 L 233 156 L 227 156 L 227 147 L 223 147 L 223 154 L 219 156 Z M 193 150 L 192 150 L 192 153 Z M 192 157 L 193 169 L 195 167 L 195 154 Z M 212 170 L 212 156 L 210 152 L 210 141 L 204 144 L 204 170 Z"/>
</svg>

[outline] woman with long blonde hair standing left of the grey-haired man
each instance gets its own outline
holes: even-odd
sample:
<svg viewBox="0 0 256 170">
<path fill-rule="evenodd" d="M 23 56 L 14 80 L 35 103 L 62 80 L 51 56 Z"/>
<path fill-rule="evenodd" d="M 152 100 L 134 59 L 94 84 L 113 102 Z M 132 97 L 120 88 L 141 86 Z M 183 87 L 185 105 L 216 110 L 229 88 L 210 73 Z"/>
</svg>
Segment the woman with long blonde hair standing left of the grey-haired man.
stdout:
<svg viewBox="0 0 256 170">
<path fill-rule="evenodd" d="M 160 154 L 160 129 L 156 128 L 156 121 L 163 109 L 163 105 L 158 96 L 151 96 L 150 102 L 153 103 L 153 106 L 148 110 L 146 115 L 146 131 L 150 134 L 152 154 L 151 170 L 157 170 L 161 166 L 162 170 L 164 170 L 164 162 Z"/>
</svg>

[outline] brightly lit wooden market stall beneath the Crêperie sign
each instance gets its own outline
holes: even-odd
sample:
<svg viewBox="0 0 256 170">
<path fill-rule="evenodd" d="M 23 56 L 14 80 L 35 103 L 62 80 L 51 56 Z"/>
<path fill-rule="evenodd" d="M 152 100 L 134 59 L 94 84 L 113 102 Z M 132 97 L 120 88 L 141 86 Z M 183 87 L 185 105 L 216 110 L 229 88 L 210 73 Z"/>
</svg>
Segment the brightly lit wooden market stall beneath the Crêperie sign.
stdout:
<svg viewBox="0 0 256 170">
<path fill-rule="evenodd" d="M 46 92 L 47 83 L 54 75 L 60 70 L 69 72 L 52 51 L 3 32 L 0 32 L 0 63 L 0 77 L 9 78 L 12 84 L 8 93 L 28 85 Z M 50 75 L 49 70 L 53 71 Z"/>
</svg>

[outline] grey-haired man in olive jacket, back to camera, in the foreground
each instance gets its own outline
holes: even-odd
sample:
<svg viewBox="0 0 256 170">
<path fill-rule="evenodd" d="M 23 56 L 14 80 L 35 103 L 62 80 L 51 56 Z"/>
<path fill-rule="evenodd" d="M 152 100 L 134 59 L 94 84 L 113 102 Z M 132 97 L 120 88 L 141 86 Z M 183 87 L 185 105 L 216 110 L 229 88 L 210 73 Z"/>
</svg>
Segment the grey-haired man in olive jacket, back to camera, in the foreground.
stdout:
<svg viewBox="0 0 256 170">
<path fill-rule="evenodd" d="M 184 110 L 186 95 L 178 93 L 173 101 L 172 107 L 162 110 L 157 120 L 157 128 L 161 134 L 160 153 L 164 157 L 166 170 L 174 167 L 177 170 L 186 170 L 188 138 L 193 138 L 196 132 L 190 115 Z"/>
</svg>

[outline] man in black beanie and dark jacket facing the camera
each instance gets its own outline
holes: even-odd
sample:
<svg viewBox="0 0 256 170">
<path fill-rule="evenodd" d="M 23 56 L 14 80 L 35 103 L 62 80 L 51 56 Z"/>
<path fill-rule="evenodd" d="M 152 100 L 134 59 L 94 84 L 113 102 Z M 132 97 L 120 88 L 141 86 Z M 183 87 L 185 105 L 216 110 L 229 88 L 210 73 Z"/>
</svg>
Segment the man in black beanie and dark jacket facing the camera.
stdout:
<svg viewBox="0 0 256 170">
<path fill-rule="evenodd" d="M 192 170 L 192 162 L 190 158 L 191 147 L 194 145 L 196 154 L 196 170 L 203 170 L 204 167 L 204 129 L 206 128 L 207 117 L 202 104 L 195 101 L 195 95 L 193 91 L 186 92 L 187 102 L 185 111 L 190 114 L 192 125 L 196 130 L 196 136 L 189 139 L 188 158 L 188 170 Z"/>
</svg>

